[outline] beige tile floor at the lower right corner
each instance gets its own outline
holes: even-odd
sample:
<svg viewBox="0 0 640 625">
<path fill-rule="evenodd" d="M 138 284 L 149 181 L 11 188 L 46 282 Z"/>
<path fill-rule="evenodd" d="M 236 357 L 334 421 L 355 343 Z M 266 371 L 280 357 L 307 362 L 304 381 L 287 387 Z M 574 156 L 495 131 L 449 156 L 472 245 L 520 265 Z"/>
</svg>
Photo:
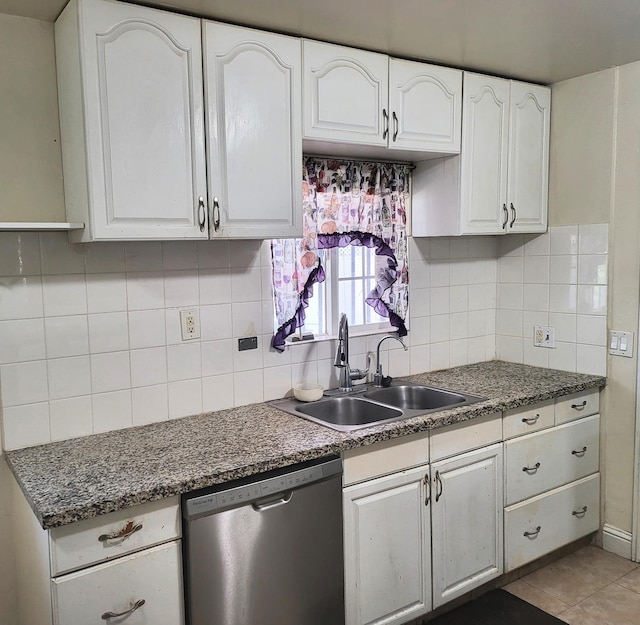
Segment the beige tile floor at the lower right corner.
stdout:
<svg viewBox="0 0 640 625">
<path fill-rule="evenodd" d="M 504 589 L 570 625 L 640 625 L 640 568 L 592 545 Z"/>
</svg>

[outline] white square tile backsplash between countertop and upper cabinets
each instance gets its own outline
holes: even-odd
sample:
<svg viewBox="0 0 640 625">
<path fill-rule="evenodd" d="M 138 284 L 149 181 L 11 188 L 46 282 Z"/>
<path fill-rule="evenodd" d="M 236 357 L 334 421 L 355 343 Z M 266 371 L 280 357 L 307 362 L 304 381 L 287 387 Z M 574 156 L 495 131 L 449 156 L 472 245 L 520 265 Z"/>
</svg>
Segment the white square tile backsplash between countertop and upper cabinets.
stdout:
<svg viewBox="0 0 640 625">
<path fill-rule="evenodd" d="M 411 240 L 410 347 L 385 343 L 385 373 L 496 355 L 602 372 L 606 232 Z M 199 339 L 181 340 L 183 308 L 198 309 Z M 532 347 L 533 324 L 555 326 L 556 350 Z M 4 448 L 275 399 L 302 380 L 336 385 L 333 341 L 279 354 L 272 327 L 266 242 L 71 245 L 64 233 L 0 233 Z M 244 336 L 258 349 L 238 351 Z M 352 337 L 353 366 L 379 338 Z"/>
</svg>

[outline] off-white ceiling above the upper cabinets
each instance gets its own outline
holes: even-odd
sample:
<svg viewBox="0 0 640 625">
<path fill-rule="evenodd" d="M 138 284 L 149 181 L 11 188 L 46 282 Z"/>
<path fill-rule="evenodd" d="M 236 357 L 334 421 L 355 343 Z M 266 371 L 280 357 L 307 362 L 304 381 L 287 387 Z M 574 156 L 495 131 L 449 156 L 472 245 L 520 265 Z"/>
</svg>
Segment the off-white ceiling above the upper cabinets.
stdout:
<svg viewBox="0 0 640 625">
<path fill-rule="evenodd" d="M 222 21 L 552 83 L 640 60 L 640 0 L 149 0 Z M 54 21 L 66 0 L 0 0 Z"/>
</svg>

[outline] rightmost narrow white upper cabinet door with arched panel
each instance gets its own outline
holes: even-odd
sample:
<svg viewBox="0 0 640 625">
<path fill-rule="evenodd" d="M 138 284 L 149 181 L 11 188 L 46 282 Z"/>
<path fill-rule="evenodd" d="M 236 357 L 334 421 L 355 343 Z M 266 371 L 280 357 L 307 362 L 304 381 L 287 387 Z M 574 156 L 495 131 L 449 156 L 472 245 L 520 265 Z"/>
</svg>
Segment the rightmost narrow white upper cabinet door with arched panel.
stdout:
<svg viewBox="0 0 640 625">
<path fill-rule="evenodd" d="M 545 232 L 549 192 L 551 90 L 511 81 L 509 231 Z"/>
</svg>

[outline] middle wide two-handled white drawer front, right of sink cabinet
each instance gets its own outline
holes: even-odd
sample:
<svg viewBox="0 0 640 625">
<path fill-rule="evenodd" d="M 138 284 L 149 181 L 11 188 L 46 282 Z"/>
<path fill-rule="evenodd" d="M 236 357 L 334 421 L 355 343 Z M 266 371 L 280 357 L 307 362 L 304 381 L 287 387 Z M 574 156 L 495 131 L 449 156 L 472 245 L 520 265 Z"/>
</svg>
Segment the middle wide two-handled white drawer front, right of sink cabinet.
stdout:
<svg viewBox="0 0 640 625">
<path fill-rule="evenodd" d="M 505 443 L 506 505 L 599 470 L 600 416 L 566 423 Z"/>
</svg>

